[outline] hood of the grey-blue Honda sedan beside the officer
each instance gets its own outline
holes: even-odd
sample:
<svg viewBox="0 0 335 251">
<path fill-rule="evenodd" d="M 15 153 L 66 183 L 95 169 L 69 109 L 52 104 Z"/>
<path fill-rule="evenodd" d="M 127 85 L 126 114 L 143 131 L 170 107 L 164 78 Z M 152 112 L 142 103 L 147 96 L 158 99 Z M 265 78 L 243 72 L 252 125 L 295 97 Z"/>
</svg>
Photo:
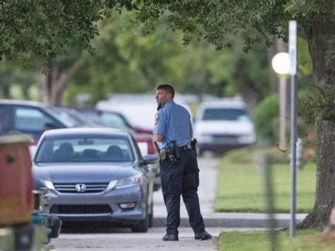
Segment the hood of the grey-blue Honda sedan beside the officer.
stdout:
<svg viewBox="0 0 335 251">
<path fill-rule="evenodd" d="M 52 182 L 110 182 L 140 172 L 133 163 L 38 163 L 33 176 Z"/>
</svg>

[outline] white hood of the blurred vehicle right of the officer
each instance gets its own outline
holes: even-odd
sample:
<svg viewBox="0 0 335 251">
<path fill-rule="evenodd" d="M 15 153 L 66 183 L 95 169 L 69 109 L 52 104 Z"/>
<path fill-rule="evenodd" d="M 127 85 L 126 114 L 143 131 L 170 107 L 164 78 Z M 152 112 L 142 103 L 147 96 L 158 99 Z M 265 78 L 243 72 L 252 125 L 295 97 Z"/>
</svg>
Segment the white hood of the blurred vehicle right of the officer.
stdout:
<svg viewBox="0 0 335 251">
<path fill-rule="evenodd" d="M 224 128 L 224 130 L 223 130 Z M 254 131 L 252 122 L 249 121 L 201 121 L 195 124 L 195 132 L 206 134 L 249 134 Z"/>
</svg>

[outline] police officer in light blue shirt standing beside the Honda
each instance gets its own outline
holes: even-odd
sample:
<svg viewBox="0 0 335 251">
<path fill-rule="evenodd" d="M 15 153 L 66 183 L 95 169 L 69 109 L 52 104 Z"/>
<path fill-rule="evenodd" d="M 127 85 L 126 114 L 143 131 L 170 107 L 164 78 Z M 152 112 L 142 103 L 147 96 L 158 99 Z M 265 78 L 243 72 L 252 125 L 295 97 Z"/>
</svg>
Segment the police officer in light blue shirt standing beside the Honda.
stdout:
<svg viewBox="0 0 335 251">
<path fill-rule="evenodd" d="M 189 112 L 177 105 L 174 88 L 169 84 L 155 89 L 158 112 L 155 115 L 153 137 L 160 142 L 160 180 L 167 209 L 166 235 L 163 240 L 178 240 L 180 226 L 180 195 L 189 215 L 194 239 L 207 240 L 197 190 L 199 169 L 195 147 L 191 145 L 192 124 Z"/>
</svg>

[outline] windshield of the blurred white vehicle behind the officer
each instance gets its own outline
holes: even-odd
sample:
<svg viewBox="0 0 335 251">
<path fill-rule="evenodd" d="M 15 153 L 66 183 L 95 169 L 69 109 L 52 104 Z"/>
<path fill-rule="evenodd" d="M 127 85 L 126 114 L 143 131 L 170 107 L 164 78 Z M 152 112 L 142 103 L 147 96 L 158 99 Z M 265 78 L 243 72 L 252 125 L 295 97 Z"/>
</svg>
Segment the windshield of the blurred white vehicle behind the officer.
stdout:
<svg viewBox="0 0 335 251">
<path fill-rule="evenodd" d="M 206 108 L 202 120 L 249 120 L 244 109 Z"/>
</svg>

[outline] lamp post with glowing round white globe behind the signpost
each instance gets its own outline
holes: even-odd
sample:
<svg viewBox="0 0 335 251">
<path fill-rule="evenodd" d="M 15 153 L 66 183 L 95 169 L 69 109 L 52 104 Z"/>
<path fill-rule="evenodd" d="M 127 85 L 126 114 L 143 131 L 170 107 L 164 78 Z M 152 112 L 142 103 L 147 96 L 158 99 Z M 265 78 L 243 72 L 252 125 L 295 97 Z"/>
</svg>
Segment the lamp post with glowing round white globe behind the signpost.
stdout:
<svg viewBox="0 0 335 251">
<path fill-rule="evenodd" d="M 271 64 L 279 78 L 279 147 L 284 149 L 286 148 L 286 76 L 290 71 L 288 53 L 276 54 Z"/>
</svg>

